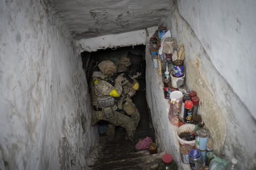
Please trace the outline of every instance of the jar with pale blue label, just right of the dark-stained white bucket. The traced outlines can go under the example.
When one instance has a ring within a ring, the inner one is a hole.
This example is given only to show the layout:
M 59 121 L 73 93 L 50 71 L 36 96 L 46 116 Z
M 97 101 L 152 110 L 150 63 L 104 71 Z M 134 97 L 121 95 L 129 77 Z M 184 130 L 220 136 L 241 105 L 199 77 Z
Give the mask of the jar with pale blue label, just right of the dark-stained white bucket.
M 207 128 L 200 128 L 196 131 L 196 148 L 199 150 L 206 150 L 207 140 L 209 138 L 210 131 Z

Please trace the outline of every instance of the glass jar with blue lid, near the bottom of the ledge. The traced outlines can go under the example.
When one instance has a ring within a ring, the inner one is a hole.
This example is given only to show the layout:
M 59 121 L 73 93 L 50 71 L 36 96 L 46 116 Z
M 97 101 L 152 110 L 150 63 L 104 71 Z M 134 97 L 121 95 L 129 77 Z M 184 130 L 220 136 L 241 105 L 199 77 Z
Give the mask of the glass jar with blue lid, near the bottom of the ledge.
M 189 151 L 189 165 L 191 169 L 200 170 L 203 167 L 201 153 L 197 149 Z

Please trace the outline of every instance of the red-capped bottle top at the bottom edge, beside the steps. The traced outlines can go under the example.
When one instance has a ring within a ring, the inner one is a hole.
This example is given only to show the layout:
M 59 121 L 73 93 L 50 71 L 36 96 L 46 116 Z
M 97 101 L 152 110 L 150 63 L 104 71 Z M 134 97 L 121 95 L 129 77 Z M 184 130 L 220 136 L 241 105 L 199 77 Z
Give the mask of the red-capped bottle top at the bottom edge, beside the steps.
M 158 164 L 158 170 L 177 170 L 177 163 L 173 160 L 170 154 L 164 154 Z

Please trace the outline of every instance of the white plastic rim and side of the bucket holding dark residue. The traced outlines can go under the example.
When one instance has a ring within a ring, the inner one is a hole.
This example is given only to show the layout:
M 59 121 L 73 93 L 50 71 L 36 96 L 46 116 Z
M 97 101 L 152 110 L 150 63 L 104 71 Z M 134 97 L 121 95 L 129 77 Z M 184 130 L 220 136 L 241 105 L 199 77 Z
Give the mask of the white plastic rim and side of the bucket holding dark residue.
M 183 140 L 179 137 L 179 134 L 182 133 L 182 132 L 193 132 L 194 129 L 195 129 L 195 126 L 196 125 L 193 125 L 193 124 L 184 124 L 182 126 L 180 126 L 177 130 L 177 138 L 179 140 L 179 143 L 180 145 L 182 144 L 189 144 L 191 147 L 195 147 L 195 144 L 196 144 L 196 140 Z

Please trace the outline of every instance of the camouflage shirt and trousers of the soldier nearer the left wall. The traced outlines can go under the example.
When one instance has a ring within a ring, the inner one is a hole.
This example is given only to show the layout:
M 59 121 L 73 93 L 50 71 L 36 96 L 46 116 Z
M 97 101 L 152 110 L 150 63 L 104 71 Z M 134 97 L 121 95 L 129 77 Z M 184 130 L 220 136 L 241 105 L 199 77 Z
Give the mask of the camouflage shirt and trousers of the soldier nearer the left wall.
M 121 126 L 127 131 L 129 139 L 133 140 L 133 131 L 136 130 L 136 126 L 131 117 L 117 112 L 116 105 L 113 105 L 111 107 L 113 109 L 113 115 L 111 115 L 110 117 L 105 114 L 104 107 L 98 107 L 99 99 L 110 96 L 110 93 L 113 89 L 115 89 L 120 96 L 122 92 L 122 80 L 123 78 L 121 76 L 116 78 L 115 86 L 112 86 L 109 82 L 106 82 L 104 80 L 97 80 L 96 82 L 94 82 L 91 90 L 92 105 L 94 107 L 94 111 L 92 114 L 92 125 L 96 124 L 98 120 L 106 120 L 109 122 L 108 130 L 106 133 L 108 139 L 114 138 L 115 126 Z

